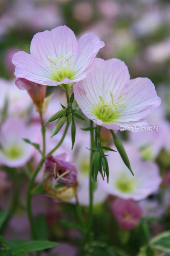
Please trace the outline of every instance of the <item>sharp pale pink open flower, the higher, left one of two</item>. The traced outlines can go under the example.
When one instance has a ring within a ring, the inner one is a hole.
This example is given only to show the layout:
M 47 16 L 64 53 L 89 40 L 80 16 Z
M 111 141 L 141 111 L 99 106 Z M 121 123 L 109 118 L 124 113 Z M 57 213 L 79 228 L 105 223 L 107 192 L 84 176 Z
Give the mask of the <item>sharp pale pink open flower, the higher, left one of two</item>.
M 86 77 L 85 69 L 103 46 L 93 33 L 84 34 L 77 42 L 66 26 L 46 30 L 33 36 L 31 54 L 14 54 L 14 75 L 44 85 L 75 83 Z

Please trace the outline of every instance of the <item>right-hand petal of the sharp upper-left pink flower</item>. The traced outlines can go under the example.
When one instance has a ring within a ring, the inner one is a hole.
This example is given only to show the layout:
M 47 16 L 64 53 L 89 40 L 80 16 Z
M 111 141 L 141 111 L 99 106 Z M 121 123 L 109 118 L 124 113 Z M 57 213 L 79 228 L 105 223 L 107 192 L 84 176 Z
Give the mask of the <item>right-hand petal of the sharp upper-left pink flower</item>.
M 94 33 L 86 33 L 78 39 L 78 54 L 74 68 L 77 73 L 83 72 L 94 60 L 104 42 Z

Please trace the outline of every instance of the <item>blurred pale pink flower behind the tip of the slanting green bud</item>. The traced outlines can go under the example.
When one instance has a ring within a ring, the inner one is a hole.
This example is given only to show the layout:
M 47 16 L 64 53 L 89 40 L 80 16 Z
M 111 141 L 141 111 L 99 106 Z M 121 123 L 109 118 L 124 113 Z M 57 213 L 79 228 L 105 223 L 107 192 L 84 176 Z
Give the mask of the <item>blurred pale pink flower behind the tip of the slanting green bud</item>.
M 110 195 L 124 199 L 142 200 L 155 193 L 162 181 L 157 164 L 142 161 L 139 152 L 132 145 L 124 145 L 134 176 L 123 163 L 118 153 L 107 156 L 109 183 L 100 179 L 102 188 Z M 113 147 L 111 147 L 113 148 Z

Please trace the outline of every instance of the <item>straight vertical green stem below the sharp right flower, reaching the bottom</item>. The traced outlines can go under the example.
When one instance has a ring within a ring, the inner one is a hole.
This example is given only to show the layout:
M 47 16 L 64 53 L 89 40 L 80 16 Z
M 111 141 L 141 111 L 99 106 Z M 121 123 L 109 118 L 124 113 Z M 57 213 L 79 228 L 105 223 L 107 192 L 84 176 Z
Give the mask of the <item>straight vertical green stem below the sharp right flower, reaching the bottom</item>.
M 93 122 L 90 120 L 90 127 L 93 127 Z M 90 131 L 90 138 L 91 138 L 91 149 L 94 149 L 94 131 Z M 80 255 L 84 255 L 84 247 L 86 242 L 89 239 L 90 232 L 92 230 L 92 220 L 93 220 L 93 181 L 92 181 L 92 173 L 91 173 L 91 165 L 92 165 L 92 160 L 93 160 L 93 151 L 91 150 L 90 153 L 90 172 L 89 172 L 89 220 L 88 220 L 88 227 L 87 231 L 84 237 L 83 245 L 81 248 Z

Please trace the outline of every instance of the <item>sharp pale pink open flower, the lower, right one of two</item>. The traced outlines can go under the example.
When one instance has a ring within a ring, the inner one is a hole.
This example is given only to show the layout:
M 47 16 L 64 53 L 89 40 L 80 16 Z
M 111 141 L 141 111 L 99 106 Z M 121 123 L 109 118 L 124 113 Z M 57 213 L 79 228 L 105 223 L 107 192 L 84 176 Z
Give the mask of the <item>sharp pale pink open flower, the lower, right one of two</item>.
M 161 103 L 151 80 L 130 80 L 127 66 L 118 59 L 96 58 L 89 68 L 90 74 L 73 86 L 74 98 L 85 116 L 107 129 L 147 124 L 144 117 Z

